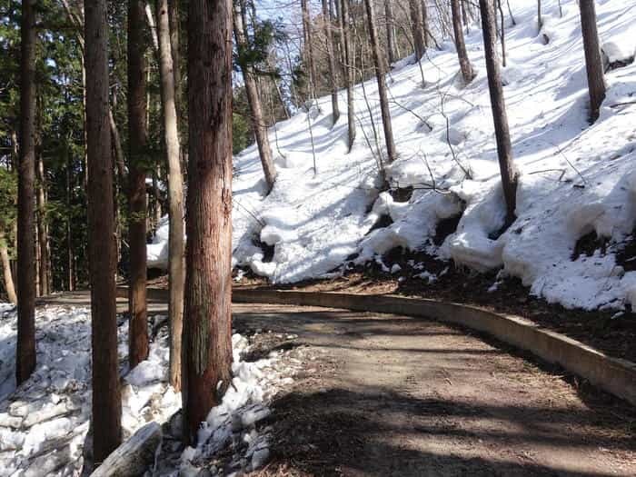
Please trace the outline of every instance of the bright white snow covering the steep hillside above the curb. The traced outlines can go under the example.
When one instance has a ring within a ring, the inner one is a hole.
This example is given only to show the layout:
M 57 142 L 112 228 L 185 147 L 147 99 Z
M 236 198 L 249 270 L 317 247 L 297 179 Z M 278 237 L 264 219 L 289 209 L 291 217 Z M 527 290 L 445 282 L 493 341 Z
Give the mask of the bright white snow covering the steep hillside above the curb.
M 498 236 L 504 205 L 482 35 L 479 25 L 472 25 L 466 37 L 478 72 L 472 84 L 462 87 L 451 42 L 422 58 L 424 87 L 412 58 L 394 65 L 388 77 L 400 157 L 387 168 L 387 179 L 393 189 L 413 187 L 408 202 L 381 192 L 369 147 L 375 147 L 372 124 L 359 84 L 351 154 L 345 144 L 346 114 L 332 127 L 330 98 L 323 97 L 320 110 L 313 107 L 309 113 L 315 172 L 305 113 L 270 130 L 279 175 L 267 197 L 256 147 L 234 158 L 234 264 L 273 283 L 292 283 L 339 273 L 347 260 L 363 263 L 402 246 L 478 271 L 502 268 L 532 293 L 568 307 L 621 308 L 635 302 L 636 273 L 623 271 L 614 249 L 575 260 L 572 253 L 578 239 L 592 231 L 620 243 L 634 227 L 636 65 L 608 73 L 601 118 L 589 125 L 578 6 L 562 3 L 560 18 L 556 0 L 543 2 L 541 35 L 532 2 L 511 2 L 516 26 L 506 17 L 504 93 L 522 174 L 518 219 L 508 231 Z M 636 8 L 631 0 L 597 2 L 597 14 L 601 44 L 607 45 L 611 61 L 633 56 Z M 382 144 L 375 80 L 364 90 Z M 345 99 L 341 91 L 343 112 Z M 457 231 L 441 246 L 433 245 L 437 224 L 458 214 Z M 393 223 L 373 228 L 383 215 Z M 263 243 L 273 246 L 271 260 Z

